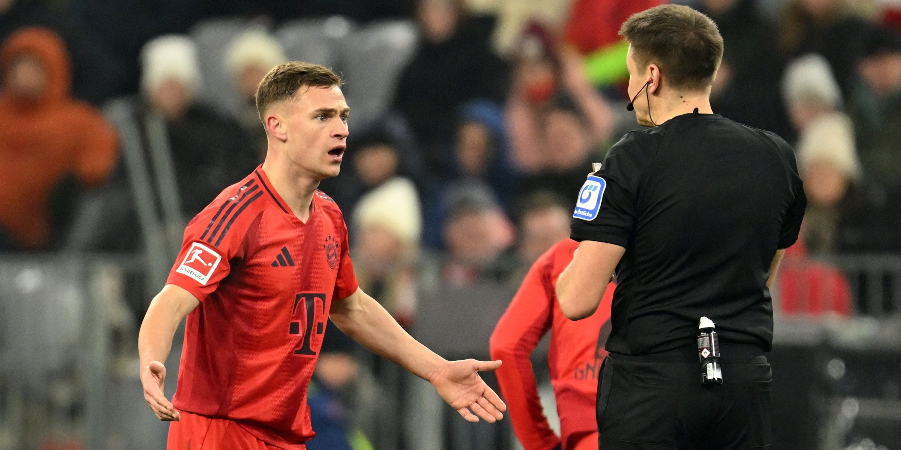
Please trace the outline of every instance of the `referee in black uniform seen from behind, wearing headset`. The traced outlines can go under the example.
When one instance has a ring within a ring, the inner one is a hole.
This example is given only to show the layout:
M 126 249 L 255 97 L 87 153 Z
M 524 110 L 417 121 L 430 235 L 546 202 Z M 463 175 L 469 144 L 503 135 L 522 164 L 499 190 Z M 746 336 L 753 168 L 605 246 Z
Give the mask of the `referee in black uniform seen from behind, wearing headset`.
M 579 193 L 576 256 L 560 275 L 571 320 L 618 287 L 597 392 L 600 448 L 737 449 L 772 444 L 769 285 L 797 239 L 805 195 L 777 135 L 710 108 L 723 38 L 704 14 L 634 14 L 629 94 L 642 125 Z M 699 320 L 715 323 L 723 383 L 704 383 Z

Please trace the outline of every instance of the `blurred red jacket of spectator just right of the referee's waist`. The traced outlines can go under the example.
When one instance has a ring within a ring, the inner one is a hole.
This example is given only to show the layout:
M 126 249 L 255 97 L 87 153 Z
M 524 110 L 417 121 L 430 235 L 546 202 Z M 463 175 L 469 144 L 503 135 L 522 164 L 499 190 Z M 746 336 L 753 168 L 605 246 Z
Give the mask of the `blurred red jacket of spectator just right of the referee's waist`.
M 851 286 L 842 272 L 807 257 L 803 241 L 788 247 L 776 277 L 776 310 L 787 316 L 850 316 Z

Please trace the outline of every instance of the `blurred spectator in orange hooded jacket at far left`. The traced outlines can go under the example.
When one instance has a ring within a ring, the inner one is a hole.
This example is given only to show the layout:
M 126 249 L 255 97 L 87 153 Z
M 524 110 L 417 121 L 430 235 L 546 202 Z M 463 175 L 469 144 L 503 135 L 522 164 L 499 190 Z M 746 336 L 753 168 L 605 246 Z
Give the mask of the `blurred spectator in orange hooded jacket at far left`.
M 66 48 L 52 31 L 25 28 L 0 49 L 2 247 L 59 243 L 77 187 L 105 181 L 116 157 L 113 128 L 69 96 Z M 6 238 L 3 238 L 3 235 Z

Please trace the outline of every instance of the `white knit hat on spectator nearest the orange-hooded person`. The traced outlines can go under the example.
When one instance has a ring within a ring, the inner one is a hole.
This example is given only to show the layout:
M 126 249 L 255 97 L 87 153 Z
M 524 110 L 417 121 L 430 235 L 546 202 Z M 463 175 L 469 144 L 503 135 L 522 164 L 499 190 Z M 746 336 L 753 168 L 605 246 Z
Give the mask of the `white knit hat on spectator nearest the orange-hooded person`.
M 169 79 L 175 79 L 192 94 L 200 88 L 200 67 L 193 40 L 167 34 L 150 40 L 141 49 L 141 89 L 149 93 Z

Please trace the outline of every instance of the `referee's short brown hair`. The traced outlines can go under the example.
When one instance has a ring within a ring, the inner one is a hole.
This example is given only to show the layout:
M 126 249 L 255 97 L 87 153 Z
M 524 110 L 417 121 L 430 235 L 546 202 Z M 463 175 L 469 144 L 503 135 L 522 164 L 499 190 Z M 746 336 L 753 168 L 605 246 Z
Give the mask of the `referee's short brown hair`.
M 640 67 L 657 64 L 677 88 L 710 87 L 723 60 L 716 24 L 688 6 L 661 4 L 633 14 L 619 34 L 632 45 Z

